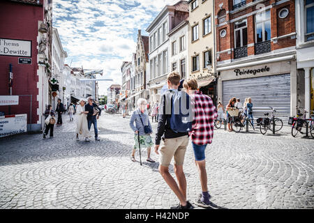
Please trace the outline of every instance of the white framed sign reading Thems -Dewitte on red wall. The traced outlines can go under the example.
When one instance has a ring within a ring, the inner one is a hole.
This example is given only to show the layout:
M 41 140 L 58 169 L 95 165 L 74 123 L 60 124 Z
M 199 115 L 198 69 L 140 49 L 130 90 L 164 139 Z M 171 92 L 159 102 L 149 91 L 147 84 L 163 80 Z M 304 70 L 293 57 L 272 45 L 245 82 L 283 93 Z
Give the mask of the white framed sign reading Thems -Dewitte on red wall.
M 31 40 L 0 38 L 0 55 L 31 57 Z

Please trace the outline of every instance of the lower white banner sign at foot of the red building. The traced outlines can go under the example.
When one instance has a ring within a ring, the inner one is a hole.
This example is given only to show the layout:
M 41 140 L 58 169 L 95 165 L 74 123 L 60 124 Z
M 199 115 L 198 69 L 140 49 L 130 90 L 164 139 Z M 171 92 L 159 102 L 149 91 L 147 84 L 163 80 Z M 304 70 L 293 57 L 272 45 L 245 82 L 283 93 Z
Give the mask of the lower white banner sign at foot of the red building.
M 0 116 L 0 137 L 27 132 L 27 114 Z

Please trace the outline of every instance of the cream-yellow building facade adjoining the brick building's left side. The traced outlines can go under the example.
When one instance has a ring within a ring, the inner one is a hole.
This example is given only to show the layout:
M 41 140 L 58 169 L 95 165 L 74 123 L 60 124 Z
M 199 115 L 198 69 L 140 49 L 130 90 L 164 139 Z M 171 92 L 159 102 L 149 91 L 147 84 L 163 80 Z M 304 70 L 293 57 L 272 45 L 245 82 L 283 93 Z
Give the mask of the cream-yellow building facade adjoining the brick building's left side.
M 190 0 L 188 17 L 188 76 L 197 80 L 202 93 L 217 100 L 216 79 L 210 72 L 216 72 L 214 2 Z M 218 1 L 216 1 L 217 3 Z M 210 66 L 210 69 L 208 69 Z

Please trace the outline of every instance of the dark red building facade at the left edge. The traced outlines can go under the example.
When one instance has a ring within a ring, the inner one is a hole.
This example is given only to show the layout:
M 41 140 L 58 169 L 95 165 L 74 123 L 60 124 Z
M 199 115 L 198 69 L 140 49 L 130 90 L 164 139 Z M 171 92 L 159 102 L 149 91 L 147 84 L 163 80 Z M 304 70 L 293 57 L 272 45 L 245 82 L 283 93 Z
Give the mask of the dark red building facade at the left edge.
M 0 95 L 19 95 L 0 112 L 27 114 L 27 131 L 40 131 L 50 103 L 52 1 L 1 1 L 0 19 Z

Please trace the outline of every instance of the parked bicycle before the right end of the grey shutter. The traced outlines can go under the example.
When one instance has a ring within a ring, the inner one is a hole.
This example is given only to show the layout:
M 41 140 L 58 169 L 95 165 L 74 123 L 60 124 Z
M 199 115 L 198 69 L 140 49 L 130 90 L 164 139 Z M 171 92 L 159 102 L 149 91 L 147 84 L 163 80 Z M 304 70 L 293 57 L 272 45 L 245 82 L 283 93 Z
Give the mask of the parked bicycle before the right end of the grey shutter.
M 271 118 L 268 118 L 269 113 L 265 113 L 264 116 L 266 118 L 258 118 L 260 120 L 260 133 L 266 134 L 267 130 L 271 130 L 273 132 L 278 132 L 283 128 L 283 121 L 281 118 L 275 118 L 275 113 L 277 112 L 273 107 L 271 108 Z M 275 129 L 274 129 L 275 128 Z

